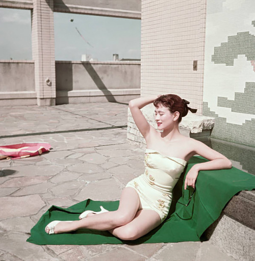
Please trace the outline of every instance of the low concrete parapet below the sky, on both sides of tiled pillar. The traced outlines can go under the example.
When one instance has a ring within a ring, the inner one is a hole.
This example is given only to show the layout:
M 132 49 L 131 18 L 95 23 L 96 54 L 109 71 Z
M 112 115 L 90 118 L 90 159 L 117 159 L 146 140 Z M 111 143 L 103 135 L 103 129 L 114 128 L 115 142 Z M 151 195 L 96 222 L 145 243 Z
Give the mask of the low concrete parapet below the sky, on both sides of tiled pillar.
M 56 104 L 140 96 L 139 62 L 56 62 Z M 36 105 L 34 61 L 0 61 L 0 106 Z

